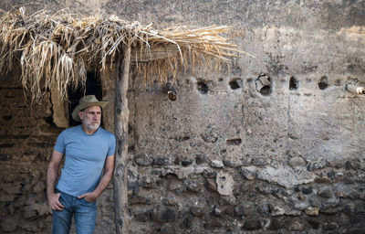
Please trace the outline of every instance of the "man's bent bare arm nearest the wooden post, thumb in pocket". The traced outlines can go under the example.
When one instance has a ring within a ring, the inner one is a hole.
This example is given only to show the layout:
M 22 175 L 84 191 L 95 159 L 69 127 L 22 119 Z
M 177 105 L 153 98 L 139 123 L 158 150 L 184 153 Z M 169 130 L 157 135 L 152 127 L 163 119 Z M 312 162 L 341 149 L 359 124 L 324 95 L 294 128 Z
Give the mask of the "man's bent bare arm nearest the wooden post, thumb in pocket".
M 78 198 L 85 198 L 89 202 L 93 202 L 96 198 L 100 197 L 102 191 L 109 185 L 114 170 L 114 154 L 107 156 L 104 165 L 104 174 L 100 179 L 99 185 L 90 193 L 78 196 Z

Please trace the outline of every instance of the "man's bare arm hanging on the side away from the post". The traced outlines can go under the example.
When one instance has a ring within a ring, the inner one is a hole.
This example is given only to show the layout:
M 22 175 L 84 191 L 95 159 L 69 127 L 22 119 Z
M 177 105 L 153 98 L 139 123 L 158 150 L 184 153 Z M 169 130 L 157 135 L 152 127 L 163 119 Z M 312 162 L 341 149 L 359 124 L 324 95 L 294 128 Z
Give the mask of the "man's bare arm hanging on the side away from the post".
M 56 179 L 58 176 L 59 165 L 61 164 L 63 154 L 53 150 L 51 161 L 47 169 L 47 198 L 48 205 L 53 210 L 62 210 L 64 206 L 59 202 L 59 194 L 55 194 Z

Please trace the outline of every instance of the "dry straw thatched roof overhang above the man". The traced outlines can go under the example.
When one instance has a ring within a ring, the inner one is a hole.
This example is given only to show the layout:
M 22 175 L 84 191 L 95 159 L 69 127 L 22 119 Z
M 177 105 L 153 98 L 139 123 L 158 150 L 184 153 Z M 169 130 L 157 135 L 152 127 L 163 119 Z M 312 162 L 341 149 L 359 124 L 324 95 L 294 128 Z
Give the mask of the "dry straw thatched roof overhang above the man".
M 130 45 L 134 68 L 143 74 L 144 82 L 159 80 L 162 84 L 187 66 L 212 66 L 210 61 L 214 60 L 219 68 L 228 58 L 238 57 L 243 51 L 220 36 L 229 29 L 174 27 L 157 31 L 118 16 L 80 17 L 66 10 L 26 16 L 20 8 L 0 17 L 0 69 L 4 72 L 20 62 L 22 83 L 34 100 L 55 83 L 67 99 L 68 86 L 84 85 L 87 71 L 95 67 L 103 73 L 112 69 L 123 46 Z

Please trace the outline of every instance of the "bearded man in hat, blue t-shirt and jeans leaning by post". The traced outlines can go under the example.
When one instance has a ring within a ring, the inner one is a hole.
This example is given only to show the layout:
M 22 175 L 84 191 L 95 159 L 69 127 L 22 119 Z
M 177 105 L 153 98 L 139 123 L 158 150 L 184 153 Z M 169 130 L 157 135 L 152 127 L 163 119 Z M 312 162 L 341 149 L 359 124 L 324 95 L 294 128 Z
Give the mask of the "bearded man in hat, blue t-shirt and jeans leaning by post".
M 81 98 L 72 112 L 72 118 L 81 124 L 57 137 L 47 170 L 53 233 L 68 233 L 73 216 L 78 234 L 94 232 L 96 199 L 110 183 L 114 167 L 115 136 L 99 127 L 101 109 L 107 103 L 98 101 L 94 95 Z M 65 164 L 55 191 L 64 155 Z

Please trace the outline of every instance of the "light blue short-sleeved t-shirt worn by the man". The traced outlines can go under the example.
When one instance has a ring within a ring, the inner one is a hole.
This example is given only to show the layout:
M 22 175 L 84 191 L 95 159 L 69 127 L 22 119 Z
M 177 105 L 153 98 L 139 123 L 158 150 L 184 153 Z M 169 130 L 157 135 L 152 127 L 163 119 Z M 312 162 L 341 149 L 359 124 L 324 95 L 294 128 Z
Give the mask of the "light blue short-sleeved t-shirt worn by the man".
M 58 135 L 55 150 L 65 154 L 56 188 L 78 197 L 99 185 L 106 157 L 115 154 L 115 136 L 101 127 L 89 135 L 78 125 Z

